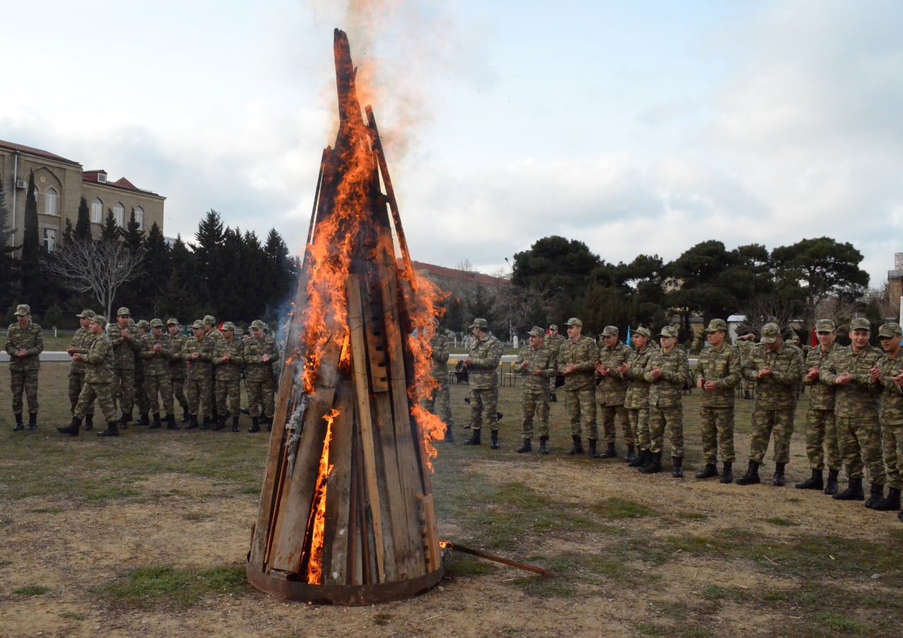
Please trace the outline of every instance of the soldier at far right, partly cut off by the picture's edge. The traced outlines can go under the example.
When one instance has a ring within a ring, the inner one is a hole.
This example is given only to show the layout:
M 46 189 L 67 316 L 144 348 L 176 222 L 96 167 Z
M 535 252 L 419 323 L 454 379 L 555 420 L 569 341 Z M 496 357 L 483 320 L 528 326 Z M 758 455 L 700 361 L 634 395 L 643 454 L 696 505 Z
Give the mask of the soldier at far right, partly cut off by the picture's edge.
M 903 487 L 903 349 L 900 348 L 900 325 L 886 323 L 878 329 L 878 339 L 884 350 L 871 376 L 882 385 L 881 438 L 884 447 L 884 467 L 888 472 L 888 495 L 871 508 L 879 512 L 897 512 L 900 508 L 900 487 Z M 898 513 L 903 521 L 903 513 Z

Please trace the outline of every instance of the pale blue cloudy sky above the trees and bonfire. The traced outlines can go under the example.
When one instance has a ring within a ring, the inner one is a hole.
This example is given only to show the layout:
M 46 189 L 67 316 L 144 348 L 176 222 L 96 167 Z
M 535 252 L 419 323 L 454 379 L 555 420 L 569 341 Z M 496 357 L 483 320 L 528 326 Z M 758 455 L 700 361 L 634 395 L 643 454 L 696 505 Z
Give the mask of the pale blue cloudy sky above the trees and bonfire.
M 898 2 L 0 0 L 0 139 L 303 251 L 349 33 L 415 260 L 507 273 L 537 239 L 607 262 L 830 236 L 903 252 Z M 30 25 L 23 28 L 25 25 Z

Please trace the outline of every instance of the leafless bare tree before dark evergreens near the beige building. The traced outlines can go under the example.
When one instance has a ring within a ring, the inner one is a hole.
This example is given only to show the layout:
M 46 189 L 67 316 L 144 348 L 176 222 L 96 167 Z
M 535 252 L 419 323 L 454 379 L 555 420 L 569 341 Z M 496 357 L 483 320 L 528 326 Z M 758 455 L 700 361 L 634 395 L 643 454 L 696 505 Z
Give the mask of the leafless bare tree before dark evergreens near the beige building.
M 44 269 L 70 291 L 91 294 L 110 319 L 116 291 L 144 273 L 144 249 L 118 241 L 73 241 L 51 253 Z

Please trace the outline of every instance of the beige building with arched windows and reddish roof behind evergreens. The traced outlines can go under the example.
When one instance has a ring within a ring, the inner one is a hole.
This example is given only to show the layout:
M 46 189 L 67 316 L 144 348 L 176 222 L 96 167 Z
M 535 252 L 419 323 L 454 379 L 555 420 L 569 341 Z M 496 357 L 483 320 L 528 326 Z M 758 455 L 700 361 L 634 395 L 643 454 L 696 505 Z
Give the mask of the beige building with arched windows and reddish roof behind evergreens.
M 83 171 L 79 162 L 22 144 L 0 140 L 0 180 L 3 180 L 7 227 L 14 228 L 14 245 L 21 245 L 24 233 L 25 197 L 28 175 L 34 171 L 38 200 L 38 236 L 44 247 L 53 251 L 61 241 L 66 220 L 74 228 L 79 220 L 81 198 L 88 202 L 91 233 L 97 238 L 113 211 L 116 225 L 126 227 L 132 209 L 135 220 L 145 232 L 156 222 L 163 232 L 163 202 L 166 198 L 150 190 L 139 189 L 125 177 L 107 180 L 107 171 Z

